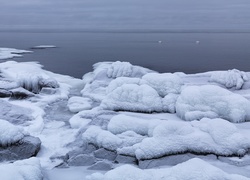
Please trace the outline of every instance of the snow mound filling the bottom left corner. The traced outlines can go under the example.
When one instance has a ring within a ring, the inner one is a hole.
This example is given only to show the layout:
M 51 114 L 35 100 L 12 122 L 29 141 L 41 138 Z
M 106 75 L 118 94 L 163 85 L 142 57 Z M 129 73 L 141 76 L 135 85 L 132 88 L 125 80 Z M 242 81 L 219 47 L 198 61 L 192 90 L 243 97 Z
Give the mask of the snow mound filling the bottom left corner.
M 0 164 L 1 180 L 42 180 L 43 174 L 37 158 Z

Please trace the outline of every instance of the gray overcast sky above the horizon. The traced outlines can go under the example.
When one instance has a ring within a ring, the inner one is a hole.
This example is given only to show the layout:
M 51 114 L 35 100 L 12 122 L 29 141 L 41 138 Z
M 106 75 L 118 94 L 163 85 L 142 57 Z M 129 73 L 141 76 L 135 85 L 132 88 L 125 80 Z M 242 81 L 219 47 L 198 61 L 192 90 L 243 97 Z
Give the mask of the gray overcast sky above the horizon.
M 6 28 L 250 30 L 250 0 L 0 0 Z

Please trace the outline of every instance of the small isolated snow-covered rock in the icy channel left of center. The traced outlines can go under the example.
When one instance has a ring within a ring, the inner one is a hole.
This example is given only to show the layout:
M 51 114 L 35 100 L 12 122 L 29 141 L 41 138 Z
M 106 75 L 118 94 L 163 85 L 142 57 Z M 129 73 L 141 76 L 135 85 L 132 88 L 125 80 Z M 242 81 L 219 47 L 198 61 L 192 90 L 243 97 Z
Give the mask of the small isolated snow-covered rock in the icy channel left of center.
M 89 98 L 73 96 L 68 100 L 68 108 L 71 112 L 76 113 L 82 110 L 89 110 L 92 108 L 92 101 Z

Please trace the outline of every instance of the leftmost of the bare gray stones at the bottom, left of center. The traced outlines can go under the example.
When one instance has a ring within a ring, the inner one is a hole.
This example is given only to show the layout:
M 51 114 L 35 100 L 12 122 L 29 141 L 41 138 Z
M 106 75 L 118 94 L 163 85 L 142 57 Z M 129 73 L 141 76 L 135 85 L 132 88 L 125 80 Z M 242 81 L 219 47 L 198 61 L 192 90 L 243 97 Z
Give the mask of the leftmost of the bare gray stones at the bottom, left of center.
M 96 162 L 93 155 L 80 154 L 68 160 L 69 166 L 90 166 Z

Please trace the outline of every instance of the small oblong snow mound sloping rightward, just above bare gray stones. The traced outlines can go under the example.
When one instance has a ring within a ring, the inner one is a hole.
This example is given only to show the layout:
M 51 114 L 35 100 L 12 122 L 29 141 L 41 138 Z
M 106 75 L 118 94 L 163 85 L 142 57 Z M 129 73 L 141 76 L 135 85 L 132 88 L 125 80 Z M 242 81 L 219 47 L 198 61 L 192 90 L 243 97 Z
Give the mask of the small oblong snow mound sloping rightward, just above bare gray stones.
M 82 137 L 88 143 L 93 143 L 98 147 L 103 147 L 108 150 L 116 150 L 122 144 L 122 140 L 119 137 L 98 126 L 90 126 L 83 133 Z

